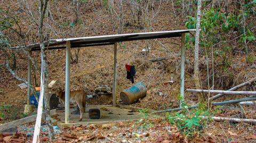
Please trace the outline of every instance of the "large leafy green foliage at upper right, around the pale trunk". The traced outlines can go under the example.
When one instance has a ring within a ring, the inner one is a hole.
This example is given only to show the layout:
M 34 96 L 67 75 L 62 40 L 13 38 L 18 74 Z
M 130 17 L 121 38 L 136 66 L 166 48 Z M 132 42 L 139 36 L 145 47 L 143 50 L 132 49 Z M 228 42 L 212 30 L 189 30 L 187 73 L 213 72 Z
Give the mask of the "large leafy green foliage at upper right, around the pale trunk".
M 202 11 L 202 17 L 200 21 L 200 40 L 199 46 L 203 46 L 206 49 L 207 53 L 210 53 L 212 47 L 215 47 L 214 55 L 222 57 L 220 60 L 220 65 L 223 70 L 227 71 L 231 65 L 232 57 L 231 48 L 229 47 L 228 40 L 230 40 L 230 32 L 238 30 L 239 42 L 241 44 L 246 41 L 255 40 L 255 35 L 251 32 L 250 28 L 253 27 L 253 22 L 245 26 L 244 32 L 244 21 L 249 19 L 249 13 L 252 12 L 255 3 L 250 3 L 247 1 L 245 4 L 245 10 L 241 11 L 241 14 L 235 15 L 233 13 L 224 14 L 221 13 L 220 8 L 218 9 L 204 9 Z M 186 22 L 186 27 L 188 29 L 196 28 L 196 18 L 193 16 L 187 16 L 188 20 Z M 234 33 L 234 32 L 233 32 Z M 195 38 L 189 37 L 186 35 L 185 43 L 188 48 L 192 48 L 195 45 Z M 193 45 L 192 45 L 193 44 Z M 220 48 L 217 49 L 218 45 Z M 242 46 L 244 47 L 244 46 Z M 248 49 L 245 48 L 245 52 L 248 52 Z M 250 59 L 249 59 L 250 58 Z M 253 57 L 247 57 L 247 61 L 253 61 Z

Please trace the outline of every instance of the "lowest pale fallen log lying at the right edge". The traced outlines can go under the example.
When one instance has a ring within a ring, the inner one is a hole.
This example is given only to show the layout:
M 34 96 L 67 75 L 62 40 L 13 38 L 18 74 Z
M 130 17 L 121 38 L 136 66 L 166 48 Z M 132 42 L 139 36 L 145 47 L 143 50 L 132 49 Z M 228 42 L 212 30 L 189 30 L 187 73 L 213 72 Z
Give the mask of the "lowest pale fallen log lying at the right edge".
M 234 122 L 234 123 L 249 123 L 249 124 L 256 124 L 256 120 L 254 119 L 239 119 L 239 118 L 229 118 L 229 117 L 211 117 L 211 116 L 200 116 L 203 117 L 203 119 L 209 119 L 211 118 L 212 120 L 216 122 Z

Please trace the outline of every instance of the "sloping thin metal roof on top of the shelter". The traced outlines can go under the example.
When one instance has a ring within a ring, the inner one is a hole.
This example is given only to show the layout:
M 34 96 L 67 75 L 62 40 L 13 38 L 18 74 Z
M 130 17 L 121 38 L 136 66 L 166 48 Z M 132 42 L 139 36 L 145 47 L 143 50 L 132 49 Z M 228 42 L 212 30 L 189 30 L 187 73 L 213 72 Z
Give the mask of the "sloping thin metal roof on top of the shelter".
M 195 30 L 196 29 L 127 33 L 127 34 L 119 34 L 119 35 L 92 36 L 92 37 L 65 38 L 65 39 L 51 39 L 51 40 L 45 41 L 44 45 L 47 47 L 52 47 L 51 49 L 65 48 L 65 47 L 56 47 L 56 46 L 66 45 L 66 41 L 71 41 L 71 48 L 112 45 L 115 42 L 122 42 L 122 41 L 181 37 L 182 33 L 187 33 L 189 31 L 195 31 Z M 28 45 L 28 46 L 22 46 L 22 47 L 12 47 L 12 48 L 19 49 L 19 48 L 26 48 L 26 47 L 31 48 L 31 51 L 37 51 L 40 49 L 39 43 Z

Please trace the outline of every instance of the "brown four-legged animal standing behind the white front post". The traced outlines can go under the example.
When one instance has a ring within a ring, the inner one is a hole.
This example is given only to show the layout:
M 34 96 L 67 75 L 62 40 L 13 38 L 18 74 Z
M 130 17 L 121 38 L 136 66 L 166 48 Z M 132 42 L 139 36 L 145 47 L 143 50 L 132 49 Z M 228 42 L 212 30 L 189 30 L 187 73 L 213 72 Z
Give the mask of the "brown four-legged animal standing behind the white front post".
M 65 91 L 62 92 L 61 88 L 56 91 L 57 97 L 60 103 L 65 107 Z M 69 94 L 69 102 L 78 105 L 80 109 L 80 118 L 78 121 L 82 121 L 83 113 L 85 112 L 85 92 L 83 90 L 71 91 Z

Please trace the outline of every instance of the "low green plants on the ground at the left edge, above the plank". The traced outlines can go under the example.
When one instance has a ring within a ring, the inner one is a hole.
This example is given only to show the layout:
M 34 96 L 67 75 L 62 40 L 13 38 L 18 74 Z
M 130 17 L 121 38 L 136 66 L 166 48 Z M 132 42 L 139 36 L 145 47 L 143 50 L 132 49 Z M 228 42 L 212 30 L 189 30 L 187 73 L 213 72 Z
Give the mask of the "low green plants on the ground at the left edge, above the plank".
M 12 105 L 0 104 L 0 117 L 2 120 L 15 120 L 19 114 L 18 108 Z

